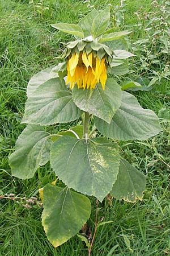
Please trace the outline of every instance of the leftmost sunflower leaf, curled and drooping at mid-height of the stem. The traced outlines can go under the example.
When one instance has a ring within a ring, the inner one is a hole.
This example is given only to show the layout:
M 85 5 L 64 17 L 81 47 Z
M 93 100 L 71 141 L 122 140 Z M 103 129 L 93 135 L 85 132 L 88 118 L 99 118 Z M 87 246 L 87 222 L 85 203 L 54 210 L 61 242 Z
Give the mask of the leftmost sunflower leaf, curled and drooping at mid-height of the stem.
M 28 125 L 19 135 L 15 151 L 10 155 L 12 175 L 20 179 L 33 177 L 37 168 L 49 160 L 52 141 L 39 125 Z

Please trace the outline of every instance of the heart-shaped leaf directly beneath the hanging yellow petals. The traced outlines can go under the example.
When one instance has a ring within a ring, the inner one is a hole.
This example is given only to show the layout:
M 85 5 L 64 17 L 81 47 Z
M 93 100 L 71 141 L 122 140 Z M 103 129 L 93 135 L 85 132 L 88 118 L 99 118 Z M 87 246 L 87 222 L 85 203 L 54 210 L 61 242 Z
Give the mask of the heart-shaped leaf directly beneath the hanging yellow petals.
M 104 121 L 110 123 L 111 119 L 121 104 L 121 87 L 114 79 L 107 79 L 105 90 L 101 84 L 97 84 L 95 89 L 73 89 L 73 100 L 83 111 L 94 114 Z

